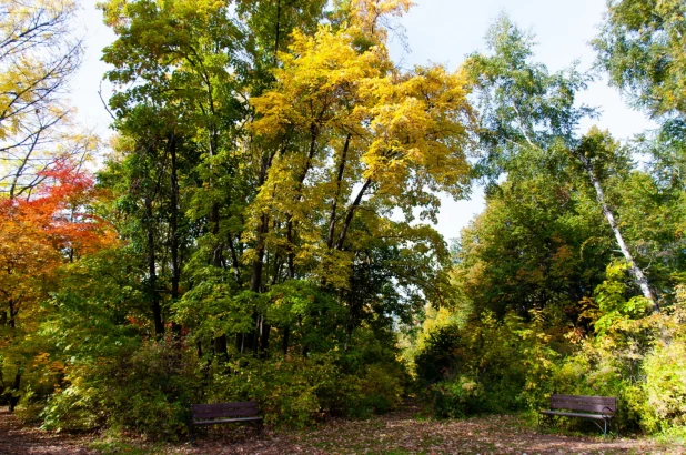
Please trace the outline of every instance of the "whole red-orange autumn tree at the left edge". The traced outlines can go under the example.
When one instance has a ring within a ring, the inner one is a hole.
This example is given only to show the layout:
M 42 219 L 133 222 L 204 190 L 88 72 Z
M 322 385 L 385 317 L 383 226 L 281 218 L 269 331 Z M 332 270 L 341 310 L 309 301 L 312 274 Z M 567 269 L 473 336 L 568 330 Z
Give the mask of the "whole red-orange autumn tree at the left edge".
M 0 385 L 10 411 L 36 354 L 26 344 L 44 311 L 40 303 L 54 290 L 58 266 L 115 242 L 109 224 L 90 208 L 95 196 L 91 176 L 64 161 L 43 172 L 32 200 L 0 201 Z

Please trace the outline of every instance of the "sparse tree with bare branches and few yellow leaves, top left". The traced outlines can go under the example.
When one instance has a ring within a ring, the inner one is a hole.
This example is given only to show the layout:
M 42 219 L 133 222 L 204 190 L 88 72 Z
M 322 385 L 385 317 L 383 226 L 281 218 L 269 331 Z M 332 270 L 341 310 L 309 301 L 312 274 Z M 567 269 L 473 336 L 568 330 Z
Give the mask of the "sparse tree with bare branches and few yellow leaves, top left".
M 79 68 L 82 43 L 73 36 L 71 0 L 0 2 L 0 194 L 31 192 L 63 155 L 91 153 L 73 131 L 63 97 Z M 63 128 L 62 128 L 63 127 Z

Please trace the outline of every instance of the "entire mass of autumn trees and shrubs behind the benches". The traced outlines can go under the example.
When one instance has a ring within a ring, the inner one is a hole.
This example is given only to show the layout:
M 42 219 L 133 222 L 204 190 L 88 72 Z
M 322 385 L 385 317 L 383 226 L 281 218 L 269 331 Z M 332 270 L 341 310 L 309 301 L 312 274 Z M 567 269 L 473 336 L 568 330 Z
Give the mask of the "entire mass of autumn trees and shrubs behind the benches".
M 538 63 L 506 16 L 456 70 L 405 68 L 387 43 L 411 6 L 100 3 L 115 133 L 95 166 L 65 97 L 77 6 L 4 0 L 2 400 L 173 439 L 190 403 L 302 426 L 566 392 L 683 434 L 686 7 L 609 2 L 587 72 Z M 591 127 L 594 78 L 649 129 Z M 477 183 L 448 247 L 438 209 Z

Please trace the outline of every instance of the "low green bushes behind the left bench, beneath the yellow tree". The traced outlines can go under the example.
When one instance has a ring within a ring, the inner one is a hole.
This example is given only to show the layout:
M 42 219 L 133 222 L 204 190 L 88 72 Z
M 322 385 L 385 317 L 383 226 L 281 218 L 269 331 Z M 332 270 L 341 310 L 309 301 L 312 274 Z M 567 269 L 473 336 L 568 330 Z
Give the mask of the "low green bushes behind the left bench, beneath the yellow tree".
M 397 365 L 372 364 L 356 374 L 342 371 L 335 353 L 287 358 L 243 357 L 216 367 L 208 402 L 251 400 L 265 422 L 304 427 L 326 414 L 364 417 L 397 406 L 404 392 Z

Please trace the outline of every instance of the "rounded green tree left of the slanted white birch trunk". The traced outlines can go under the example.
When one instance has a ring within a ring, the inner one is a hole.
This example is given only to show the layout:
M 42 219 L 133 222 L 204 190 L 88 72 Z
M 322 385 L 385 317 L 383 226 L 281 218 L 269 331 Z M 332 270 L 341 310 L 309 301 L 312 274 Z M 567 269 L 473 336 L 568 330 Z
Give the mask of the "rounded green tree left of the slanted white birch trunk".
M 454 279 L 477 313 L 544 311 L 551 327 L 579 326 L 578 302 L 602 282 L 612 246 L 595 201 L 542 172 L 487 195 L 462 232 Z

